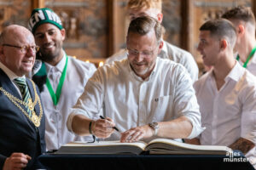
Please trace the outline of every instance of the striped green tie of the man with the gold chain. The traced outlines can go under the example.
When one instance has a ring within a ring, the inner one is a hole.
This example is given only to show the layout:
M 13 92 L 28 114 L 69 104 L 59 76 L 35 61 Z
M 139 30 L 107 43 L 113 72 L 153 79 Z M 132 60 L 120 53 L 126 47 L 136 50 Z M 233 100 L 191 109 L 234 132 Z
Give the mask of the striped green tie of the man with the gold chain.
M 23 101 L 28 104 L 28 99 L 31 99 L 31 96 L 29 94 L 27 85 L 26 85 L 26 78 L 15 78 L 15 82 L 16 84 L 19 86 L 20 88 L 20 93 L 22 95 L 22 99 Z M 31 116 L 31 111 L 28 108 L 28 106 L 26 106 L 26 111 L 28 113 L 29 116 Z

